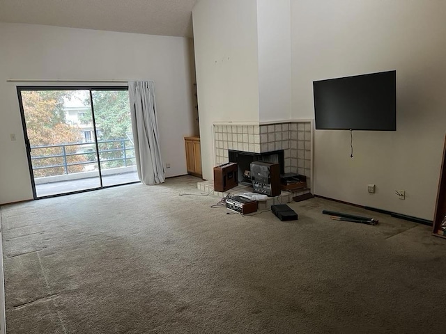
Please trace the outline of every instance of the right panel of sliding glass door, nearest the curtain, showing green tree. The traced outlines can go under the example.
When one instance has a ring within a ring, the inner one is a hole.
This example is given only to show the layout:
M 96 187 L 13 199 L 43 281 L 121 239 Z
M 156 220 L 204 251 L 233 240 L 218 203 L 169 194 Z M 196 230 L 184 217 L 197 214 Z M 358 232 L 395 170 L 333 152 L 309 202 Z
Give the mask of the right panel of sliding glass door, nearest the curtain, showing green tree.
M 139 182 L 128 90 L 91 90 L 103 186 Z

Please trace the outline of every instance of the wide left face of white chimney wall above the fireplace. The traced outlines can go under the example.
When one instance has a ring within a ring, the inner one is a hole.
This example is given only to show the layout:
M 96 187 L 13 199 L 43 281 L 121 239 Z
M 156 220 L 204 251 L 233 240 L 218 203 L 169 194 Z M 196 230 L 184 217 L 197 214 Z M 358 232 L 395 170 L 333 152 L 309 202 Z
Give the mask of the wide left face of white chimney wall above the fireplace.
M 203 178 L 213 122 L 259 122 L 256 0 L 199 0 L 192 11 Z

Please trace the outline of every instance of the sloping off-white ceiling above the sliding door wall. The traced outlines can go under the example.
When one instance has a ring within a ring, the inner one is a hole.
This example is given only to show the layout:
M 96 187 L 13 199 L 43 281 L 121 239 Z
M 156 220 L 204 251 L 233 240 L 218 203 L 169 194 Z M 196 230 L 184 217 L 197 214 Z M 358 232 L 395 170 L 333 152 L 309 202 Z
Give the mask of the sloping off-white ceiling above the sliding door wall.
M 0 22 L 192 37 L 197 0 L 0 0 Z

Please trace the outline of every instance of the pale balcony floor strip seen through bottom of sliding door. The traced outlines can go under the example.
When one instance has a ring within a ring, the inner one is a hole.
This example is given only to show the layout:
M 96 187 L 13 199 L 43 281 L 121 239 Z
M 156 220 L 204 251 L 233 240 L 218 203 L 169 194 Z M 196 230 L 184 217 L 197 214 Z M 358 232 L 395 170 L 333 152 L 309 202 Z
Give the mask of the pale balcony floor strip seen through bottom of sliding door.
M 131 182 L 139 182 L 138 173 L 136 171 L 131 173 L 102 176 L 103 186 L 114 186 Z M 72 193 L 75 191 L 83 191 L 95 188 L 100 188 L 99 177 L 88 177 L 84 179 L 36 184 L 36 193 L 37 197 L 40 198 L 45 196 L 59 195 L 61 193 Z

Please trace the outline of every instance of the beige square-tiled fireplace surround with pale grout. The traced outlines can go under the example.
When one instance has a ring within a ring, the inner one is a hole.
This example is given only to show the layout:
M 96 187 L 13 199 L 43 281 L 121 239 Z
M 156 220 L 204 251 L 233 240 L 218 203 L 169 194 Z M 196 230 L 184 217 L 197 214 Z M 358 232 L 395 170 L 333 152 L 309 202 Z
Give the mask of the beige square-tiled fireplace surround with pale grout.
M 273 124 L 215 123 L 215 165 L 229 162 L 228 150 L 264 153 L 284 150 L 284 172 L 312 177 L 312 122 Z

